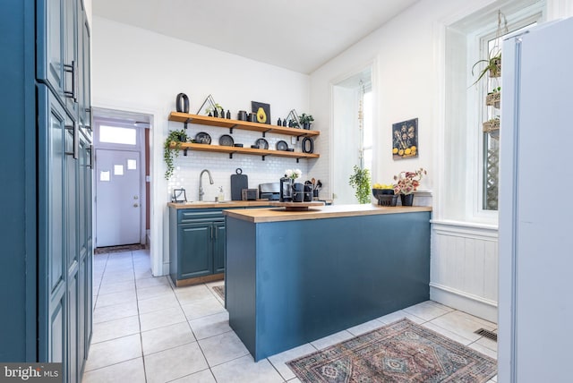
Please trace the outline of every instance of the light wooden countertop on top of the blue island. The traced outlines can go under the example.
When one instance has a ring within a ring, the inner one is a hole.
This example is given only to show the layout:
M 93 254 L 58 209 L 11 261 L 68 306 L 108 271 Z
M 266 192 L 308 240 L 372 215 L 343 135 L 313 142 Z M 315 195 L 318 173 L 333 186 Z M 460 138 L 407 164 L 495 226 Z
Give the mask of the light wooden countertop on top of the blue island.
M 417 213 L 421 211 L 432 211 L 432 208 L 425 206 L 398 206 L 390 208 L 379 205 L 364 204 L 321 206 L 318 208 L 309 208 L 308 211 L 286 211 L 284 208 L 224 210 L 223 214 L 228 217 L 243 219 L 249 222 L 261 223 L 297 221 L 303 219 L 369 216 L 376 214 Z

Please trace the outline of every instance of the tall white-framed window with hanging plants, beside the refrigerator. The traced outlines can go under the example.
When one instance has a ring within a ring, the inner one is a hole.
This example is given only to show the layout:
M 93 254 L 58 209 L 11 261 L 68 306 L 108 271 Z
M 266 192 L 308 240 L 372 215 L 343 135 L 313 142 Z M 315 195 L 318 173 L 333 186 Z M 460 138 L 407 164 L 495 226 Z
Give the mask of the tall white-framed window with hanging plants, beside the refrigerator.
M 474 85 L 485 65 L 475 66 L 475 74 L 472 67 L 488 59 L 496 45 L 501 48 L 508 34 L 543 20 L 544 9 L 544 0 L 500 1 L 447 26 L 443 45 L 444 140 L 439 160 L 445 176 L 440 182 L 438 219 L 497 225 L 499 130 L 484 132 L 483 123 L 500 115 L 499 108 L 486 105 L 486 97 L 500 87 L 501 78 L 489 79 L 485 74 Z M 507 30 L 505 22 L 500 25 L 498 21 L 499 11 L 507 17 Z

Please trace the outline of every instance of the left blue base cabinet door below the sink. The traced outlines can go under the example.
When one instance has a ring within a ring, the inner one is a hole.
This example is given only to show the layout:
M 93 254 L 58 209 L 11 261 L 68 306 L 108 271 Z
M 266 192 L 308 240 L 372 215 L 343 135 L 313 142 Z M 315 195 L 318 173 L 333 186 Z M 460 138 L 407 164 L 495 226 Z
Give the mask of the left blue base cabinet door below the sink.
M 178 226 L 177 231 L 177 279 L 213 274 L 213 226 L 186 224 Z

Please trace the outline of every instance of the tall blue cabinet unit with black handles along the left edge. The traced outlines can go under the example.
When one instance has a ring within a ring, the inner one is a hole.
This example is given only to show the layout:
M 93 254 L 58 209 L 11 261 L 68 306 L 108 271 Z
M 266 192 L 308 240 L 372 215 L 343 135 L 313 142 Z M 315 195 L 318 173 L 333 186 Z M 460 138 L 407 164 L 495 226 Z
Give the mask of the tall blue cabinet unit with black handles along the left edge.
M 0 11 L 13 31 L 0 34 L 0 360 L 63 362 L 63 381 L 78 382 L 92 327 L 89 25 L 81 0 L 6 0 Z

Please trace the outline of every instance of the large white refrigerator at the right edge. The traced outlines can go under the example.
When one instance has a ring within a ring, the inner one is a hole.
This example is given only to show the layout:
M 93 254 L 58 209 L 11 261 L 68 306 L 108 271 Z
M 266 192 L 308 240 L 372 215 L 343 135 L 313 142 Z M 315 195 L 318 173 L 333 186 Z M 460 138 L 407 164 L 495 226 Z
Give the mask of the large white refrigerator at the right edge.
M 573 381 L 573 19 L 503 43 L 498 382 Z

